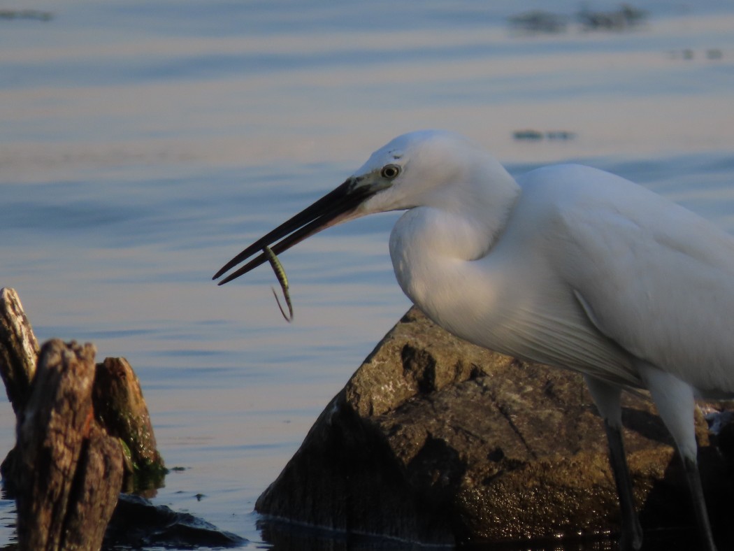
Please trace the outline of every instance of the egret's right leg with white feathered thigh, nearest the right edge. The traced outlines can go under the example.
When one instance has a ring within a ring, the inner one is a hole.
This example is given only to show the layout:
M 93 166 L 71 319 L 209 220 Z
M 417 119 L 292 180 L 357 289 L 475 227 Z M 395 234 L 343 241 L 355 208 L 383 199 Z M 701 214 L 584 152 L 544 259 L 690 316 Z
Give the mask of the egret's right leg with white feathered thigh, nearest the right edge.
M 701 538 L 702 550 L 716 551 L 706 502 L 703 498 L 701 475 L 698 470 L 696 425 L 694 421 L 693 389 L 688 383 L 650 364 L 639 365 L 639 372 L 653 396 L 661 419 L 673 436 L 683 458 L 688 487 L 691 489 L 694 513 Z

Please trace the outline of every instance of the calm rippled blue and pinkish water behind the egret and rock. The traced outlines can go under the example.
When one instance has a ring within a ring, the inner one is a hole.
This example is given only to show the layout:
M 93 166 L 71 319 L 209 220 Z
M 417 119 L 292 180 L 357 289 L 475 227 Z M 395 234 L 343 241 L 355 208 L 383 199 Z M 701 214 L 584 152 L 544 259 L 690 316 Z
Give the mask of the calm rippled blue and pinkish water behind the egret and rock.
M 283 256 L 291 325 L 269 269 L 210 278 L 390 138 L 453 129 L 514 172 L 582 160 L 734 231 L 734 7 L 636 5 L 639 28 L 553 35 L 507 18 L 578 2 L 2 6 L 52 18 L 0 19 L 0 286 L 40 340 L 91 341 L 137 370 L 167 465 L 185 467 L 156 503 L 266 547 L 255 499 L 409 306 L 388 258 L 396 215 Z M 573 137 L 513 137 L 526 129 Z M 0 502 L 0 544 L 13 522 Z

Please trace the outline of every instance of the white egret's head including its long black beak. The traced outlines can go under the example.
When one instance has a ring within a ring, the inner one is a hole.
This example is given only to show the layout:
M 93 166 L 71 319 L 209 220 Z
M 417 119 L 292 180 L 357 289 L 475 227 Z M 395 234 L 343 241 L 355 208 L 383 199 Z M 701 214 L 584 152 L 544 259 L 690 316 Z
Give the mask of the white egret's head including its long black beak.
M 267 245 L 278 254 L 318 231 L 373 212 L 451 204 L 456 194 L 447 184 L 470 180 L 486 159 L 491 157 L 473 142 L 451 132 L 427 130 L 396 137 L 375 151 L 344 184 L 231 259 L 214 279 Z M 255 256 L 219 284 L 264 262 L 264 254 Z

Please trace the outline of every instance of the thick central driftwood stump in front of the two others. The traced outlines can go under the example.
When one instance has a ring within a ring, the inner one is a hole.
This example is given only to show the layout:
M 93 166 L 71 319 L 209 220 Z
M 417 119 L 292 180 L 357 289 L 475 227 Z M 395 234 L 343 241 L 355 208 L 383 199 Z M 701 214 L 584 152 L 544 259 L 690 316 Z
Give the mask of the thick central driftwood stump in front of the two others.
M 95 350 L 43 345 L 18 419 L 15 488 L 23 550 L 98 549 L 123 480 L 117 439 L 93 419 Z

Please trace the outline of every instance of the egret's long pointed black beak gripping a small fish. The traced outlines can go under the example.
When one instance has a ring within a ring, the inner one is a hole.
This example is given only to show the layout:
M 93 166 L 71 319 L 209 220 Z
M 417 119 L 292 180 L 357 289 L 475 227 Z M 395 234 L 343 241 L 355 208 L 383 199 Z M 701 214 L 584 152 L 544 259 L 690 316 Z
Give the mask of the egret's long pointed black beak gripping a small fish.
M 222 266 L 214 274 L 212 279 L 219 278 L 222 274 L 231 270 L 240 262 L 244 262 L 253 254 L 261 253 L 251 259 L 250 262 L 247 262 L 247 264 L 244 264 L 244 266 L 230 273 L 222 281 L 219 281 L 218 285 L 223 285 L 228 281 L 232 281 L 234 278 L 239 278 L 240 275 L 267 262 L 267 257 L 262 253 L 266 246 L 270 245 L 270 248 L 272 248 L 275 254 L 280 254 L 283 251 L 287 251 L 293 245 L 296 245 L 296 243 L 305 240 L 307 237 L 345 220 L 349 215 L 352 215 L 355 209 L 357 209 L 357 206 L 377 191 L 370 186 L 357 186 L 359 182 L 360 179 L 348 179 L 344 184 L 341 184 L 341 186 L 320 198 L 319 201 L 303 209 L 290 220 L 280 224 L 280 226 L 269 232 L 269 234 L 264 235 L 264 237 L 252 243 L 252 245 Z M 273 243 L 275 245 L 272 245 Z

